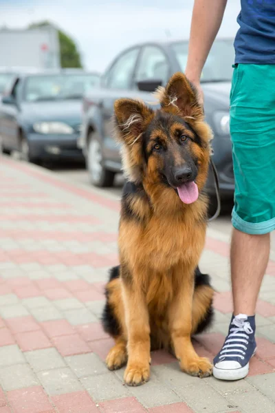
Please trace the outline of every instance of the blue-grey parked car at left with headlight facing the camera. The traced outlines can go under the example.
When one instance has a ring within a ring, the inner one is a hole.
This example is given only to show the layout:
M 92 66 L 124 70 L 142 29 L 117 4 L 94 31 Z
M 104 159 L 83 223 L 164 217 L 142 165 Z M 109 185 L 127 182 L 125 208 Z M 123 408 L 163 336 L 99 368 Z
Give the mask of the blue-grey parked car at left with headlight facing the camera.
M 80 134 L 81 100 L 99 74 L 58 70 L 20 74 L 0 103 L 0 139 L 6 153 L 40 162 L 53 158 L 83 159 Z

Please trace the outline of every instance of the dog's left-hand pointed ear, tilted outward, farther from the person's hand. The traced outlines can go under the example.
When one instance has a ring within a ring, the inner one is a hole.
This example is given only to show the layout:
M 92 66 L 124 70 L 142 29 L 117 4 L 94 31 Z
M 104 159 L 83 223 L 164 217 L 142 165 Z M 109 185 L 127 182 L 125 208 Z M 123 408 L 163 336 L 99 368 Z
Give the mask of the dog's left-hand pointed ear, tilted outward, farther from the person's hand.
M 115 100 L 114 112 L 117 138 L 127 145 L 138 140 L 154 114 L 142 101 L 126 98 Z

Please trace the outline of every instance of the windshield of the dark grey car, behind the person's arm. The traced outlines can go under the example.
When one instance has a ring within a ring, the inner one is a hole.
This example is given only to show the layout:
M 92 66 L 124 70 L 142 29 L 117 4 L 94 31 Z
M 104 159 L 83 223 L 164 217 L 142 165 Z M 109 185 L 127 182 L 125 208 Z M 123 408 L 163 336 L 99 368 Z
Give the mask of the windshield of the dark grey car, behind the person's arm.
M 185 72 L 188 56 L 188 43 L 172 43 L 171 46 L 177 56 L 181 71 Z M 217 39 L 214 41 L 208 59 L 203 67 L 201 82 L 231 81 L 233 63 L 233 41 L 230 39 Z

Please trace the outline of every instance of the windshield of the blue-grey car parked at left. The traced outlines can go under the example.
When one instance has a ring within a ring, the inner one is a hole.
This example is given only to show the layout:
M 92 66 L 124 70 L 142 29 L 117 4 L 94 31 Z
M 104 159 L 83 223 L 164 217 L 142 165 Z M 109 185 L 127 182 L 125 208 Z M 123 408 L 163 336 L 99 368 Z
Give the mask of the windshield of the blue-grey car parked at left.
M 98 85 L 97 74 L 58 74 L 29 76 L 25 81 L 24 100 L 81 99 L 87 90 Z

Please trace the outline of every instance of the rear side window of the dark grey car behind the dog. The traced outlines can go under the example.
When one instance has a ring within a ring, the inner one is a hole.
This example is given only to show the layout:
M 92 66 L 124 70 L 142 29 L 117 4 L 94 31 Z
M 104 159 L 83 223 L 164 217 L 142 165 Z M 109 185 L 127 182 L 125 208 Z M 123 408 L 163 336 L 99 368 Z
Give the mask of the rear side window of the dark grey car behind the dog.
M 140 49 L 136 47 L 118 58 L 107 74 L 107 87 L 111 89 L 130 89 L 139 51 Z

